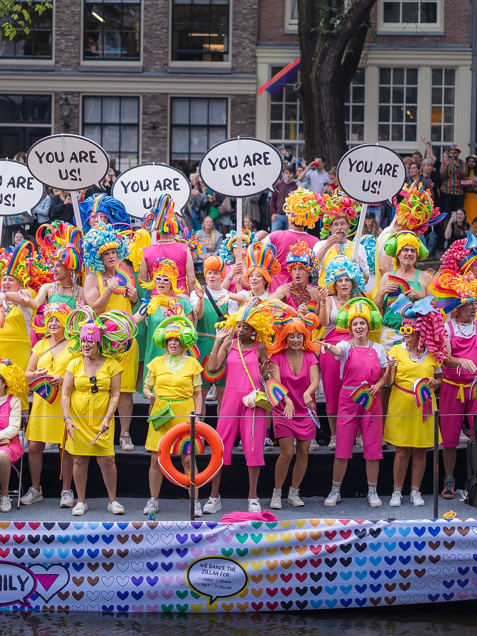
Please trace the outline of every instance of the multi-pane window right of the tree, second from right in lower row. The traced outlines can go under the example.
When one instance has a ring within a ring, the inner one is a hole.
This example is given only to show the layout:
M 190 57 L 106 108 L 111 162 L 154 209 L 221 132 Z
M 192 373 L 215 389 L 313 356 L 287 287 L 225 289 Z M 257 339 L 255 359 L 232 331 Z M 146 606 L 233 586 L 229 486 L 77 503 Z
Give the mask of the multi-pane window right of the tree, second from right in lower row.
M 417 140 L 417 69 L 379 69 L 378 140 Z

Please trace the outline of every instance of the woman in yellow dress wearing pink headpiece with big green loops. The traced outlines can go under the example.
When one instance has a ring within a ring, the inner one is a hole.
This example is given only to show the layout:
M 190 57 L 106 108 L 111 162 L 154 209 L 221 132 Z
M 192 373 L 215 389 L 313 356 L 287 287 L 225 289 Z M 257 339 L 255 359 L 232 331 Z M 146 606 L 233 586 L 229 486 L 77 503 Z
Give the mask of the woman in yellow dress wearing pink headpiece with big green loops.
M 114 411 L 118 407 L 123 369 L 114 357 L 130 346 L 137 333 L 130 315 L 104 312 L 99 318 L 90 307 L 69 314 L 65 333 L 73 340 L 71 349 L 81 356 L 67 368 L 61 393 L 61 410 L 68 438 L 66 450 L 73 455 L 73 478 L 78 501 L 74 516 L 88 510 L 85 490 L 90 457 L 100 466 L 113 515 L 123 515 L 124 507 L 116 499 L 114 463 Z

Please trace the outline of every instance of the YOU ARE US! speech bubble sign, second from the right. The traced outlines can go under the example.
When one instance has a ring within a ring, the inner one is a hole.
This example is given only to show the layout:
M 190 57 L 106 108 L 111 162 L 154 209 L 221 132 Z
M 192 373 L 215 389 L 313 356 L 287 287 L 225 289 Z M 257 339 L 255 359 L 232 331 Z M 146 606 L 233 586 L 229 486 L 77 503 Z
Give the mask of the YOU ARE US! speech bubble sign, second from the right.
M 251 197 L 275 191 L 283 170 L 282 155 L 261 139 L 237 137 L 209 148 L 199 164 L 202 181 L 225 197 Z

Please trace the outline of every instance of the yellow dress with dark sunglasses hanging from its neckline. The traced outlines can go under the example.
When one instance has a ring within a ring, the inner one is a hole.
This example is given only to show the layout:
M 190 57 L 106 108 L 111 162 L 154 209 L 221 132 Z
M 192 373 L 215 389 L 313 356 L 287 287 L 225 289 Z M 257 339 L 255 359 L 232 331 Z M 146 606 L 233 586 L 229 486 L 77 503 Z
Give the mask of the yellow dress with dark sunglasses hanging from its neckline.
M 83 356 L 72 360 L 67 371 L 74 375 L 69 415 L 78 431 L 73 429 L 73 439 L 66 438 L 66 450 L 71 455 L 94 455 L 104 457 L 114 455 L 114 417 L 109 422 L 109 432 L 88 448 L 95 434 L 100 431 L 102 420 L 107 415 L 111 378 L 122 373 L 120 364 L 114 358 L 106 358 L 96 373 L 97 393 L 92 393 L 90 378 L 86 375 Z

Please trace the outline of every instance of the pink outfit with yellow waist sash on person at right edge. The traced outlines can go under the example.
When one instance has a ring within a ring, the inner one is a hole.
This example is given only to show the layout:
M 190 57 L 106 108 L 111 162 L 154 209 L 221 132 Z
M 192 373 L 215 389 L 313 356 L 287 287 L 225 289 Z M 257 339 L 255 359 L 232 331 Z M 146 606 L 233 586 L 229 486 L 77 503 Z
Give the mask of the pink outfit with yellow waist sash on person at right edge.
M 462 338 L 456 336 L 452 321 L 448 322 L 450 329 L 450 352 L 453 357 L 466 358 L 472 360 L 477 365 L 477 333 L 470 338 Z M 477 321 L 475 324 L 477 332 Z M 477 400 L 470 399 L 470 385 L 472 384 L 475 374 L 467 373 L 462 367 L 460 375 L 457 375 L 457 368 L 451 369 L 443 366 L 444 381 L 441 386 L 441 395 L 439 397 L 439 411 L 441 413 L 441 435 L 442 445 L 444 448 L 455 448 L 459 446 L 460 429 L 462 428 L 462 420 L 464 415 L 467 418 L 469 429 L 473 431 L 472 413 L 476 413 Z M 450 380 L 454 384 L 448 384 L 446 380 Z M 460 386 L 455 386 L 458 384 Z M 460 396 L 459 396 L 460 392 Z

